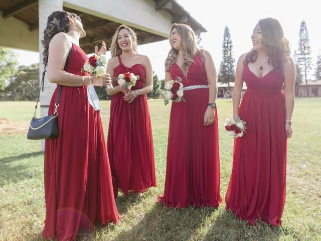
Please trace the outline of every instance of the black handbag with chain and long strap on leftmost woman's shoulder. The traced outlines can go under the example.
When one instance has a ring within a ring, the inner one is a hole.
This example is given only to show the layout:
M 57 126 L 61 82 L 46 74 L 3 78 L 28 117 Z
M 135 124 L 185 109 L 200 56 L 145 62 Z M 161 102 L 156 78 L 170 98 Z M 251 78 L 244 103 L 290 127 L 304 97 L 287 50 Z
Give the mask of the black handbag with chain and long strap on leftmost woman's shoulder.
M 69 50 L 64 70 L 66 70 L 68 67 L 71 52 L 72 52 L 72 47 Z M 27 134 L 27 138 L 30 140 L 43 140 L 43 139 L 48 139 L 48 138 L 59 137 L 58 106 L 59 106 L 59 101 L 60 101 L 62 85 L 59 86 L 57 101 L 55 103 L 56 108 L 55 108 L 54 114 L 44 116 L 42 118 L 36 118 L 36 111 L 37 111 L 39 97 L 40 97 L 40 90 L 42 89 L 42 91 L 44 91 L 44 80 L 45 80 L 47 63 L 48 63 L 48 57 L 47 57 L 46 64 L 45 64 L 45 70 L 42 73 L 42 80 L 41 80 L 41 84 L 39 87 L 38 99 L 37 99 L 37 103 L 35 105 L 35 113 L 31 119 L 29 131 Z

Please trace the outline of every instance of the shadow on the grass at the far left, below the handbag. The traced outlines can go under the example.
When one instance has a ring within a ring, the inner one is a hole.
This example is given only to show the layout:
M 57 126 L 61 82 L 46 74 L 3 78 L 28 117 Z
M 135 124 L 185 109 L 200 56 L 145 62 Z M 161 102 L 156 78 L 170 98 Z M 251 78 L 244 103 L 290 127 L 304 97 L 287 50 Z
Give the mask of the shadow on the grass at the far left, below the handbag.
M 43 152 L 32 152 L 19 156 L 5 157 L 0 159 L 0 186 L 8 183 L 29 179 L 35 175 L 28 167 L 29 163 L 24 162 L 29 158 L 36 158 L 43 155 Z M 13 162 L 18 161 L 18 164 Z

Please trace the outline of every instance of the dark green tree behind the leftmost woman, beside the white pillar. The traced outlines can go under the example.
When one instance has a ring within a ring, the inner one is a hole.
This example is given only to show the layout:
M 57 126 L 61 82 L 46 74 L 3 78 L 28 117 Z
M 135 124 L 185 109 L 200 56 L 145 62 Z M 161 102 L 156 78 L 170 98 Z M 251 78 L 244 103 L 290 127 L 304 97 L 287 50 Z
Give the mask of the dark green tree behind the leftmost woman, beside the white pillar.
M 14 100 L 36 100 L 39 90 L 39 64 L 21 65 L 18 73 L 10 80 L 5 92 Z

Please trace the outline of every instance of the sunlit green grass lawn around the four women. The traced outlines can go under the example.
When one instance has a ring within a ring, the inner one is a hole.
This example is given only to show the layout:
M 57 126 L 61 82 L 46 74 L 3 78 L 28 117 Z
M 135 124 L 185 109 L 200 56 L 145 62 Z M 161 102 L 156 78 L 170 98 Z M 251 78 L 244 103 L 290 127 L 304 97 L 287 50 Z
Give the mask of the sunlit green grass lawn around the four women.
M 34 105 L 34 102 L 0 102 L 0 128 L 4 118 L 9 126 L 28 127 Z M 102 103 L 105 135 L 109 105 L 109 101 Z M 219 99 L 217 106 L 224 197 L 233 152 L 233 139 L 224 132 L 224 119 L 232 115 L 232 102 Z M 261 222 L 250 227 L 227 212 L 224 202 L 218 209 L 181 210 L 168 210 L 155 202 L 164 189 L 170 108 L 163 100 L 149 101 L 158 186 L 144 193 L 140 200 L 120 194 L 116 200 L 120 225 L 97 224 L 92 233 L 80 233 L 77 240 L 321 240 L 321 98 L 296 99 L 280 227 Z M 24 132 L 0 136 L 0 240 L 42 240 L 43 153 L 41 142 L 27 140 Z

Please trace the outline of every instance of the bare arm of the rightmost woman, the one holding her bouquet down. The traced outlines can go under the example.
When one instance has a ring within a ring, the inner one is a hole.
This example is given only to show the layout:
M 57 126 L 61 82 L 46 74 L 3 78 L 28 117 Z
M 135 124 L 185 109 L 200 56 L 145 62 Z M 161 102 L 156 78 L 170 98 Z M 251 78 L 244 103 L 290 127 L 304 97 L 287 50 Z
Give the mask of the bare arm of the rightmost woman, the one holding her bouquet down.
M 232 102 L 233 102 L 233 117 L 239 114 L 239 107 L 241 101 L 241 94 L 243 89 L 243 70 L 244 70 L 244 59 L 246 54 L 241 55 L 237 61 L 236 71 L 235 71 L 235 82 L 232 93 Z

